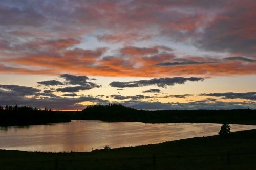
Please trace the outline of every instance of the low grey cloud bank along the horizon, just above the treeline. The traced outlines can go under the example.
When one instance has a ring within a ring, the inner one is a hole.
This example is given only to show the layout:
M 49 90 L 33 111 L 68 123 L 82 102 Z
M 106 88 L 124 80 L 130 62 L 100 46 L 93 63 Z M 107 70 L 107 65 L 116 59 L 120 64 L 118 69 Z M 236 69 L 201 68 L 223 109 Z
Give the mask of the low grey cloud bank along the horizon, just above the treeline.
M 32 107 L 48 107 L 52 109 L 66 109 L 66 110 L 76 110 L 83 109 L 84 106 L 78 103 L 84 101 L 96 102 L 100 104 L 106 104 L 109 101 L 102 100 L 102 96 L 80 96 L 79 98 L 65 98 L 56 96 L 51 93 L 40 93 L 38 89 L 34 89 L 32 87 L 25 86 L 17 86 L 17 85 L 1 85 L 0 86 L 0 105 L 29 105 Z M 10 91 L 5 91 L 10 90 Z M 36 97 L 25 97 L 28 92 L 31 95 L 35 95 Z M 15 95 L 14 95 L 15 94 Z M 184 94 L 190 95 L 190 94 Z M 219 96 L 229 99 L 241 98 L 241 99 L 251 99 L 255 101 L 256 92 L 248 92 L 248 93 L 211 93 L 211 94 L 200 94 L 206 96 Z M 39 96 L 39 98 L 38 98 Z M 45 97 L 46 96 L 46 97 Z M 71 96 L 71 95 L 70 95 Z M 175 95 L 174 95 L 175 96 Z M 177 95 L 178 96 L 178 95 Z M 183 95 L 180 95 L 183 96 Z M 72 97 L 72 96 L 71 96 Z M 188 103 L 161 103 L 161 102 L 146 102 L 140 101 L 139 99 L 145 98 L 154 98 L 151 96 L 120 96 L 120 95 L 112 95 L 115 99 L 131 99 L 130 101 L 125 101 L 121 104 L 137 109 L 150 109 L 150 110 L 162 110 L 162 109 L 247 109 L 247 108 L 256 108 L 255 102 L 221 102 L 216 99 L 207 98 L 205 100 L 199 100 Z M 210 102 L 210 103 L 209 103 Z

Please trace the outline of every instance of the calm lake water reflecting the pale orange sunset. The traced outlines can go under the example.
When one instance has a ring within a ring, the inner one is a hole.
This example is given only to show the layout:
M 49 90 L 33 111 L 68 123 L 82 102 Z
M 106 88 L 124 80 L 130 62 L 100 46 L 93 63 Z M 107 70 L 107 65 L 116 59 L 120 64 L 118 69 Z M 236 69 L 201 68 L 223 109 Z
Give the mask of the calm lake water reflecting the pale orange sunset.
M 217 135 L 221 124 L 101 122 L 0 127 L 0 149 L 23 151 L 92 151 L 105 145 L 129 147 L 199 136 Z M 254 125 L 230 125 L 231 131 L 256 129 Z

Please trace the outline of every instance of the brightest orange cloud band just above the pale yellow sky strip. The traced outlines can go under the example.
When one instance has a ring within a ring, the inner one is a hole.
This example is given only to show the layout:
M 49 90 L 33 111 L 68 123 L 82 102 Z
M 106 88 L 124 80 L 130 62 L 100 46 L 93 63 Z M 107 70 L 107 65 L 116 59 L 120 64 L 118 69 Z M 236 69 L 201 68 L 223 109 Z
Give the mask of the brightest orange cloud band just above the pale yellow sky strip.
M 175 60 L 176 56 L 172 53 L 155 54 L 158 50 L 154 48 L 125 48 L 126 57 L 100 57 L 106 51 L 105 48 L 96 50 L 74 49 L 64 52 L 62 55 L 28 55 L 22 58 L 5 59 L 5 62 L 25 65 L 28 68 L 21 69 L 3 67 L 1 72 L 17 72 L 27 74 L 61 74 L 70 72 L 82 75 L 99 76 L 135 76 L 135 77 L 163 77 L 180 75 L 203 75 L 203 76 L 226 76 L 226 75 L 249 75 L 256 73 L 255 62 L 228 61 L 216 59 L 203 59 L 199 57 L 188 57 L 187 59 L 203 61 L 200 64 L 184 64 L 172 66 L 156 65 L 162 61 Z M 130 50 L 132 49 L 132 50 Z M 120 50 L 122 51 L 122 49 Z M 136 53 L 137 52 L 137 53 Z M 127 54 L 130 56 L 127 57 Z M 212 62 L 214 61 L 214 62 Z M 138 66 L 139 64 L 139 66 Z

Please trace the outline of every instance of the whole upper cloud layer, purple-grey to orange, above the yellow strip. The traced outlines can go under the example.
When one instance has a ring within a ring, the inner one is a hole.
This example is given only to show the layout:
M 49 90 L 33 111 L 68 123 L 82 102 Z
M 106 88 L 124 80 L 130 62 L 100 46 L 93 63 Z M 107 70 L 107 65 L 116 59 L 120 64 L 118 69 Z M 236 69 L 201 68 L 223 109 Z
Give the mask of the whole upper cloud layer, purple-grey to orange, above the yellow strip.
M 160 37 L 252 58 L 256 52 L 255 1 L 24 3 L 22 7 L 0 3 L 1 72 L 137 77 L 255 74 L 254 62 L 180 59 L 160 40 L 151 47 L 131 46 Z M 108 48 L 74 48 L 84 35 L 126 46 L 111 57 L 104 56 Z

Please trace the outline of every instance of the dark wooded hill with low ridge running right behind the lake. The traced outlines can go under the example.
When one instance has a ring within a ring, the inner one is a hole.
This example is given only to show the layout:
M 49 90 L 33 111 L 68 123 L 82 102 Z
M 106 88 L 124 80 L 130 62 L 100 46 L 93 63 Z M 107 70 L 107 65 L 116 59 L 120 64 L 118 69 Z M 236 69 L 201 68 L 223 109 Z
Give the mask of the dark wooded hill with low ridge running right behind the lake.
M 77 114 L 75 119 L 132 121 L 144 123 L 233 123 L 256 125 L 256 110 L 137 110 L 120 104 L 94 105 Z

